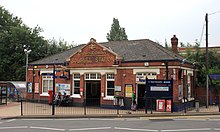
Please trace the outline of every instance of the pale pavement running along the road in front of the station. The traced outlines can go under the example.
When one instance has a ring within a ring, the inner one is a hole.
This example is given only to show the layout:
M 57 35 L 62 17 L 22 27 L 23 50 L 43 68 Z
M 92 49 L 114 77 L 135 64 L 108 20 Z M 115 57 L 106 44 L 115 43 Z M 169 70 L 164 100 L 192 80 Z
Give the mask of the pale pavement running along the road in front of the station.
M 36 106 L 38 108 L 41 108 L 40 106 Z M 32 109 L 33 106 L 30 106 L 26 109 Z M 7 105 L 0 105 L 0 119 L 14 119 L 14 118 L 137 118 L 137 117 L 145 117 L 145 118 L 183 118 L 188 116 L 217 116 L 220 115 L 218 106 L 209 106 L 208 108 L 200 107 L 199 112 L 196 112 L 195 110 L 187 111 L 186 113 L 184 111 L 181 112 L 156 112 L 148 111 L 147 114 L 145 114 L 144 111 L 129 111 L 129 110 L 120 110 L 120 114 L 117 114 L 112 112 L 112 110 L 103 110 L 102 112 L 94 109 L 87 110 L 89 111 L 89 114 L 84 115 L 83 109 L 74 109 L 74 113 L 68 114 L 68 110 L 71 110 L 71 107 L 57 107 L 55 115 L 51 115 L 51 106 L 48 105 L 48 113 L 44 114 L 27 114 L 21 116 L 21 103 L 20 102 L 9 102 Z M 43 108 L 46 111 L 46 108 Z M 61 111 L 59 113 L 59 111 Z M 73 111 L 73 110 L 71 110 Z M 100 113 L 99 113 L 100 112 Z

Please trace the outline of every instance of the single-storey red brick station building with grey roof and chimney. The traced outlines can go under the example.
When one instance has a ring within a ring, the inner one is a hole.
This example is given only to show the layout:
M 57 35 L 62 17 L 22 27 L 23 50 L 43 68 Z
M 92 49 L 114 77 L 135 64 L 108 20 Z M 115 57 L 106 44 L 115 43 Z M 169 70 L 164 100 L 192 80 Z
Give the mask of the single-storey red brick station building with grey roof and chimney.
M 26 97 L 46 100 L 55 83 L 55 92 L 66 92 L 79 105 L 86 97 L 88 104 L 89 100 L 95 100 L 99 106 L 112 106 L 116 94 L 124 98 L 126 105 L 135 93 L 141 108 L 143 79 L 147 77 L 173 78 L 173 101 L 181 101 L 183 97 L 192 100 L 194 65 L 178 55 L 175 35 L 171 42 L 174 52 L 148 39 L 105 43 L 90 39 L 87 44 L 30 63 Z M 55 81 L 54 69 L 58 76 Z M 116 89 L 121 92 L 116 93 Z

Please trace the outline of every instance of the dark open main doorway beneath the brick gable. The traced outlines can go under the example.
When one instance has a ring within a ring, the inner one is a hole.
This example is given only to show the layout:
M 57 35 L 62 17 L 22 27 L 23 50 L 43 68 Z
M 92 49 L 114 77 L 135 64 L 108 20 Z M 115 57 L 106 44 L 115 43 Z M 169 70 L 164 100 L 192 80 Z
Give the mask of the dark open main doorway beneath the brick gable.
M 101 82 L 86 81 L 86 105 L 100 106 Z

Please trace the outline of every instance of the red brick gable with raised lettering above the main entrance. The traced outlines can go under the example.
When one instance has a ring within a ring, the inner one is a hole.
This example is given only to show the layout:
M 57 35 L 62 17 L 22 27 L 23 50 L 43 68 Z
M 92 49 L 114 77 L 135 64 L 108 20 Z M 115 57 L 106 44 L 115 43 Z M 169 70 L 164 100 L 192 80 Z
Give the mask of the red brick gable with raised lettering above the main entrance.
M 112 66 L 117 54 L 104 46 L 90 41 L 82 49 L 74 53 L 69 60 L 70 67 L 102 67 Z

